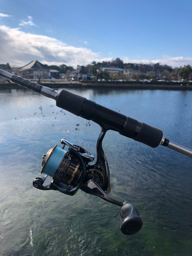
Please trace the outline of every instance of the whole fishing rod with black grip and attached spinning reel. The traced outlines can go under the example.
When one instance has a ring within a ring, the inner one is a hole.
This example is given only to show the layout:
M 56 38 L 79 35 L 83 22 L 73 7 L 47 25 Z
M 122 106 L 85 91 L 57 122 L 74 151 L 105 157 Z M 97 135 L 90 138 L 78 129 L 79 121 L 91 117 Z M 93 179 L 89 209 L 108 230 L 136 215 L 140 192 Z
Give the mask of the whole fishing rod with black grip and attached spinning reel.
M 130 235 L 138 232 L 143 223 L 133 204 L 127 201 L 117 201 L 108 195 L 111 192 L 110 169 L 102 148 L 105 133 L 108 130 L 113 130 L 153 148 L 162 145 L 192 157 L 192 150 L 166 139 L 160 129 L 126 117 L 92 100 L 66 90 L 58 93 L 55 89 L 41 86 L 1 69 L 0 76 L 52 98 L 59 108 L 100 125 L 101 132 L 96 144 L 97 159 L 94 164 L 91 164 L 94 160 L 92 154 L 67 139 L 61 139 L 62 148 L 55 145 L 42 156 L 41 174 L 45 176 L 35 178 L 33 186 L 41 190 L 57 190 L 70 196 L 74 196 L 77 190 L 81 189 L 88 194 L 120 206 L 120 230 L 123 234 Z M 65 150 L 66 146 L 68 146 L 68 150 Z M 52 182 L 44 186 L 48 176 L 52 177 Z

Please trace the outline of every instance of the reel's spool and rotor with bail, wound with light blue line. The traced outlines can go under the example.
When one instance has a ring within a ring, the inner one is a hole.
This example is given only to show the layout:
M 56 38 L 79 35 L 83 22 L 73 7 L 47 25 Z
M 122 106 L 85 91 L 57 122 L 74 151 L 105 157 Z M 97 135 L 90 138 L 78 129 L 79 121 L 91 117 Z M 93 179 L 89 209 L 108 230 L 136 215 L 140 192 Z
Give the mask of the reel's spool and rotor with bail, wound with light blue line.
M 55 145 L 51 148 L 41 163 L 41 174 L 45 177 L 37 177 L 33 186 L 41 190 L 59 190 L 63 194 L 74 196 L 82 186 L 86 175 L 86 165 L 93 161 L 94 157 L 80 146 L 76 146 L 66 139 L 61 140 L 62 148 Z M 65 151 L 65 146 L 69 150 Z M 52 177 L 51 184 L 44 186 L 46 178 Z

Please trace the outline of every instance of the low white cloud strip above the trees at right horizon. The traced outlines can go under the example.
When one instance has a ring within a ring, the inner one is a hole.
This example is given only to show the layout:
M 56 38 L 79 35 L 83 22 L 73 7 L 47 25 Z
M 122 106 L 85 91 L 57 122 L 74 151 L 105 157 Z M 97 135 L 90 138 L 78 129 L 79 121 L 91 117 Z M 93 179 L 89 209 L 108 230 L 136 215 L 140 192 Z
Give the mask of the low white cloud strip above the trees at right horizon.
M 127 57 L 124 57 L 123 59 L 124 63 L 143 63 L 143 64 L 155 64 L 160 63 L 161 65 L 167 65 L 175 67 L 183 67 L 184 65 L 190 65 L 192 66 L 192 58 L 184 58 L 184 57 L 171 57 L 171 56 L 163 56 L 160 59 L 150 60 L 150 59 L 129 59 Z

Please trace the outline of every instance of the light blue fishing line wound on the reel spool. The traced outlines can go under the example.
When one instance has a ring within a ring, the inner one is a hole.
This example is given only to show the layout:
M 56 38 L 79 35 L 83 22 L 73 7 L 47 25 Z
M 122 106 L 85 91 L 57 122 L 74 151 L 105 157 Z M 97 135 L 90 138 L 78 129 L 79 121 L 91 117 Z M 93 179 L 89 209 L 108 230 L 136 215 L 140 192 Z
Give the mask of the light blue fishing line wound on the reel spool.
M 49 160 L 46 163 L 43 173 L 53 177 L 66 152 L 67 151 L 62 150 L 62 148 L 56 146 L 55 150 L 53 151 Z

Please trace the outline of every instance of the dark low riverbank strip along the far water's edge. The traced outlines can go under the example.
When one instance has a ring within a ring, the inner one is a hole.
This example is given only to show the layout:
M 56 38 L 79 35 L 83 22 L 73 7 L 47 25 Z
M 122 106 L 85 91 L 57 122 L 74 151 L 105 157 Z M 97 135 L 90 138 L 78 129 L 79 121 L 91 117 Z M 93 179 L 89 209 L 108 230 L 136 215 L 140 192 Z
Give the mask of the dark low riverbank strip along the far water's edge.
M 181 90 L 192 91 L 192 83 L 175 83 L 175 82 L 41 82 L 42 86 L 49 88 L 121 88 L 130 90 Z M 16 83 L 0 83 L 1 89 L 19 89 L 21 88 Z

